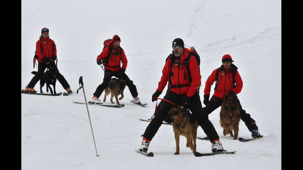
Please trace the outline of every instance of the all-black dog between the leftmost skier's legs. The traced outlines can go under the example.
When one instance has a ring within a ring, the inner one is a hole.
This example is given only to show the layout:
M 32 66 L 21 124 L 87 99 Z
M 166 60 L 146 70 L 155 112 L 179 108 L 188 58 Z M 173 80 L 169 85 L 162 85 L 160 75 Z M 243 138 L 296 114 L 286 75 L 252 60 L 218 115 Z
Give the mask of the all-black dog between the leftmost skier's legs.
M 37 74 L 38 72 L 33 71 L 32 74 Z M 51 94 L 56 93 L 56 81 L 57 81 L 57 69 L 56 68 L 49 68 L 45 73 L 43 73 L 43 76 L 40 79 L 40 93 L 42 92 L 42 87 L 46 83 L 46 92 L 49 92 Z M 50 85 L 53 85 L 53 89 L 50 87 Z

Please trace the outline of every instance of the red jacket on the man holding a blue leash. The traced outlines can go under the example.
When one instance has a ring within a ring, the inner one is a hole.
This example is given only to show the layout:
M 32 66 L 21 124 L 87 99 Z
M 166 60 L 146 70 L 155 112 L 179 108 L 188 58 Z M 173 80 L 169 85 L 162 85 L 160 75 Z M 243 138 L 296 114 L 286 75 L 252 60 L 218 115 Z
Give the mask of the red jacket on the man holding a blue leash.
M 97 56 L 97 61 L 100 59 L 104 59 L 105 57 L 107 57 L 108 53 L 109 53 L 109 47 L 111 47 L 112 53 L 109 56 L 109 60 L 108 60 L 108 64 L 104 67 L 106 69 L 109 69 L 111 71 L 119 71 L 121 69 L 121 63 L 120 60 L 122 61 L 122 68 L 127 67 L 127 59 L 124 53 L 124 50 L 119 46 L 117 49 L 113 48 L 113 41 L 109 41 L 108 43 L 106 43 L 107 47 L 105 47 L 103 49 L 103 51 L 101 52 L 101 54 L 99 56 Z M 121 55 L 120 52 L 121 51 Z

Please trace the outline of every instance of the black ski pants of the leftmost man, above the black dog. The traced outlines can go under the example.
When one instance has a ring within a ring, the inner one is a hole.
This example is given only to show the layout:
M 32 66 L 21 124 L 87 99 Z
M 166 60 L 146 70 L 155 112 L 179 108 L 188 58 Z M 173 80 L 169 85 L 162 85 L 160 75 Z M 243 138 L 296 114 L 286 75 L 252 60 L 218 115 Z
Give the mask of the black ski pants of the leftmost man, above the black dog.
M 32 80 L 29 82 L 29 84 L 26 87 L 34 88 L 35 85 L 37 84 L 37 82 L 43 76 L 43 73 L 44 73 L 46 68 L 47 68 L 47 66 L 46 66 L 45 63 L 38 62 L 38 73 L 35 74 L 35 76 L 32 78 Z M 57 80 L 60 82 L 60 84 L 63 86 L 64 89 L 69 88 L 70 85 L 67 83 L 64 76 L 61 73 L 59 73 L 59 70 L 58 70 L 55 62 L 50 64 L 50 68 L 56 68 L 57 69 Z

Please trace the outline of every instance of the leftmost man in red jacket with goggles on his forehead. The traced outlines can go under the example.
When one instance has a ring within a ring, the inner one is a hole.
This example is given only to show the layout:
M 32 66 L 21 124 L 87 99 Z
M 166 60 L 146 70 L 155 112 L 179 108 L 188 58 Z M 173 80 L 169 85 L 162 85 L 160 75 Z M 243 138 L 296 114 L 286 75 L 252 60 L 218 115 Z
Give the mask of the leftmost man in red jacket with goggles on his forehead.
M 34 89 L 37 82 L 43 76 L 46 68 L 57 69 L 57 79 L 67 93 L 71 93 L 70 85 L 67 83 L 62 74 L 59 73 L 55 60 L 57 59 L 57 48 L 55 42 L 49 38 L 49 29 L 42 28 L 40 39 L 36 42 L 36 54 L 38 61 L 38 73 L 32 78 L 25 88 L 25 92 L 36 93 Z

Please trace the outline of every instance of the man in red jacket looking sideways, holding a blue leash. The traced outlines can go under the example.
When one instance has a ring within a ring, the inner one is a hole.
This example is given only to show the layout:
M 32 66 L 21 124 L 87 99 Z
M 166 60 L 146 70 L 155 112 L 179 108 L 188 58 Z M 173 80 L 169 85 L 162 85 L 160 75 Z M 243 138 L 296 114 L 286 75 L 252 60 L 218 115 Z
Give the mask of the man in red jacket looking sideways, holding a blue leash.
M 92 97 L 92 103 L 101 104 L 99 100 L 104 89 L 109 85 L 110 79 L 114 76 L 118 79 L 124 79 L 127 87 L 130 89 L 130 93 L 133 96 L 135 103 L 140 104 L 140 99 L 138 97 L 137 87 L 134 85 L 133 81 L 124 73 L 127 67 L 127 59 L 124 50 L 120 47 L 121 39 L 118 35 L 113 36 L 113 40 L 109 41 L 101 52 L 97 56 L 97 64 L 102 63 L 102 59 L 106 59 L 105 73 L 102 84 L 100 84 Z M 121 62 L 122 67 L 121 67 Z

